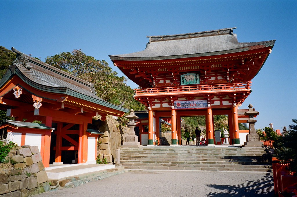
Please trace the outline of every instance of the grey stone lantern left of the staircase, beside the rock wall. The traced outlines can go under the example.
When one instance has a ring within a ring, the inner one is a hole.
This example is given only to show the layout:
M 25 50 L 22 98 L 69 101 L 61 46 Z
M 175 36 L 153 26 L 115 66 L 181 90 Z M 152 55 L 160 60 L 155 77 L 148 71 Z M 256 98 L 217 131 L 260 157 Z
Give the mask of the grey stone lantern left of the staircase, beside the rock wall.
M 125 141 L 123 142 L 123 146 L 126 147 L 139 147 L 140 142 L 138 142 L 138 136 L 135 135 L 134 127 L 136 126 L 135 120 L 138 119 L 138 116 L 134 114 L 134 110 L 130 110 L 130 114 L 128 116 L 125 116 L 125 118 L 129 119 L 128 127 L 129 127 L 129 133 L 126 135 Z

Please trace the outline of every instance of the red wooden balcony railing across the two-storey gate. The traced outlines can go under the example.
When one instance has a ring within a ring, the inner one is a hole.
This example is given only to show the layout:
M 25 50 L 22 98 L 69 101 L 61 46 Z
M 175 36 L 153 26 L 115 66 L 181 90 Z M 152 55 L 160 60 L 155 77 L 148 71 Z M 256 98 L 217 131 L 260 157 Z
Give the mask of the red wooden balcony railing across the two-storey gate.
M 170 94 L 170 93 L 185 93 L 185 92 L 209 92 L 209 91 L 236 91 L 250 89 L 252 82 L 248 83 L 226 83 L 226 84 L 204 84 L 191 86 L 173 86 L 173 87 L 158 87 L 148 89 L 135 89 L 135 95 L 141 94 Z

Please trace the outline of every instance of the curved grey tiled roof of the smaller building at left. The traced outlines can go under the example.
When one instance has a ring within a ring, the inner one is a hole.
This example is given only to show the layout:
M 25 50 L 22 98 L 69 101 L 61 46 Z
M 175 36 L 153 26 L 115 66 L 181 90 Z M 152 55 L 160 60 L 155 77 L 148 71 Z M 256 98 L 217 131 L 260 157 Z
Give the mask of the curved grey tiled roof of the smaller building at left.
M 109 103 L 95 95 L 93 84 L 77 78 L 69 73 L 59 70 L 49 64 L 20 53 L 17 59 L 9 66 L 9 70 L 0 80 L 0 86 L 6 83 L 12 75 L 18 75 L 30 86 L 45 92 L 66 94 L 81 100 L 112 108 L 121 112 L 128 112 L 129 109 Z

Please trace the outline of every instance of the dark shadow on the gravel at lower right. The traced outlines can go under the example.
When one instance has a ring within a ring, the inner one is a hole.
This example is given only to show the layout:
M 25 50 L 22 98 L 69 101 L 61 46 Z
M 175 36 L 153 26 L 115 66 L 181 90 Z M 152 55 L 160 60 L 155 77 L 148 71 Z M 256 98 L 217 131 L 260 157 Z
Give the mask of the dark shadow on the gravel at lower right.
M 273 176 L 264 175 L 256 181 L 246 181 L 240 185 L 208 185 L 208 187 L 221 190 L 219 193 L 210 192 L 206 196 L 209 197 L 225 197 L 225 196 L 274 196 Z

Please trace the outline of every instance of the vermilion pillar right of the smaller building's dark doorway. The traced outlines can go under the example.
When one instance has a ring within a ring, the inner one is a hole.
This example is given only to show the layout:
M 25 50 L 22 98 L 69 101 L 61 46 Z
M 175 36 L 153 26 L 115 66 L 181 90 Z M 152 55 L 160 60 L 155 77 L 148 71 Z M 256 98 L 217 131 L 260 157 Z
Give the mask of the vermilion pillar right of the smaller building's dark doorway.
M 78 163 L 86 163 L 88 160 L 88 123 L 79 125 L 78 139 Z

